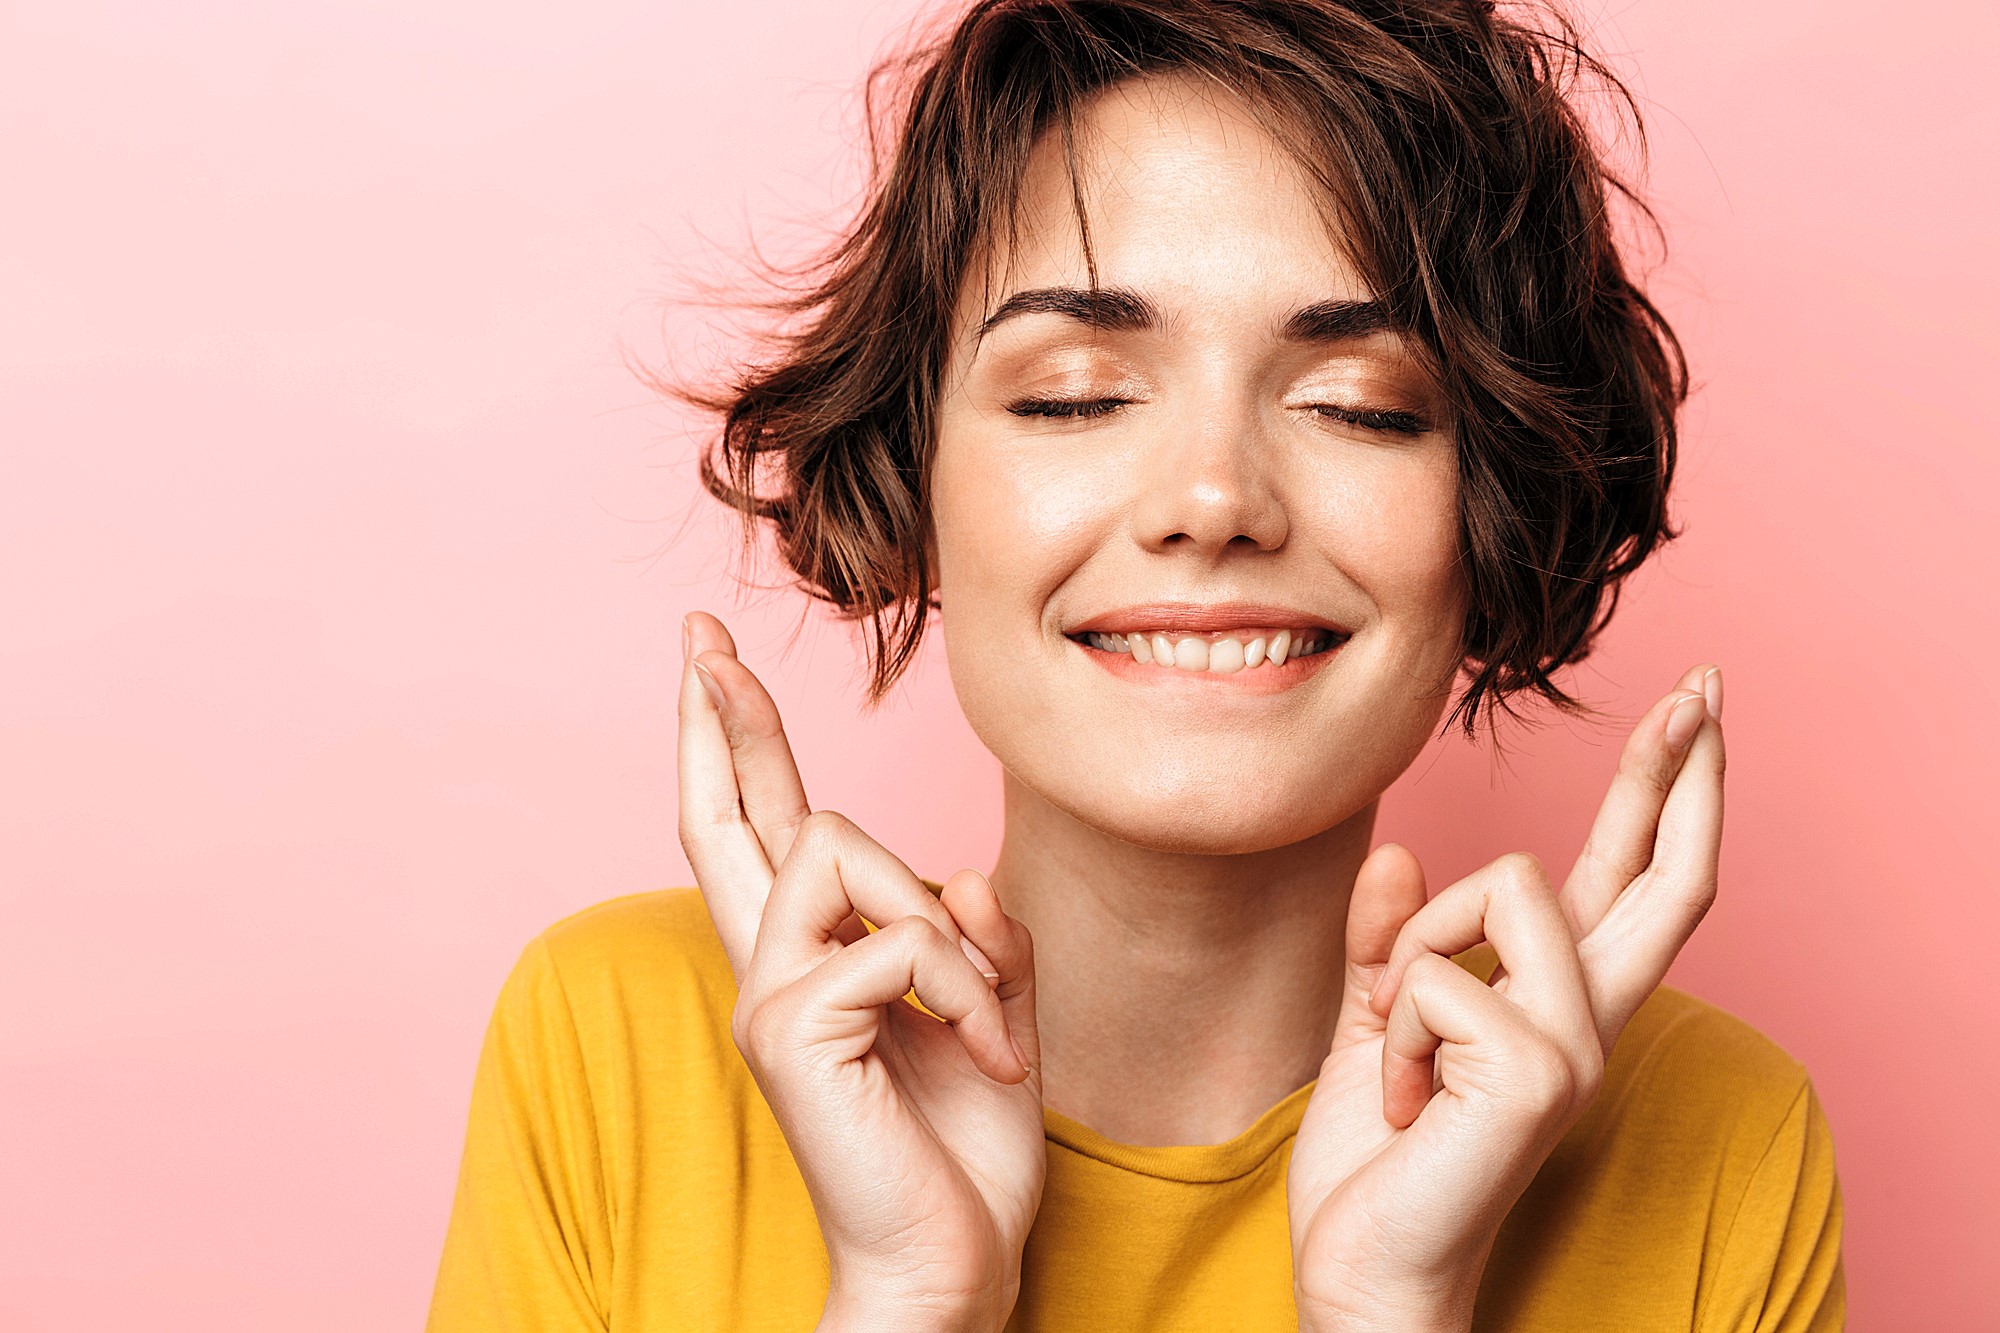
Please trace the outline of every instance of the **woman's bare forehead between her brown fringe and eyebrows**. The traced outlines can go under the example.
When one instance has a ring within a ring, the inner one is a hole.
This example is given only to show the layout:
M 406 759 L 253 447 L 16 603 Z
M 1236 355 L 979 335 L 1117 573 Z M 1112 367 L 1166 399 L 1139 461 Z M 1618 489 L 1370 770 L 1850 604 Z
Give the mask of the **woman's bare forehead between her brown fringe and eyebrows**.
M 1008 292 L 1088 286 L 1078 206 L 1100 286 L 1144 290 L 1172 312 L 1372 296 L 1324 182 L 1240 96 L 1188 74 L 1134 78 L 1078 108 L 1072 156 L 1044 132 L 1014 204 L 966 268 L 956 326 L 968 332 Z M 1258 310 L 1252 310 L 1256 306 Z

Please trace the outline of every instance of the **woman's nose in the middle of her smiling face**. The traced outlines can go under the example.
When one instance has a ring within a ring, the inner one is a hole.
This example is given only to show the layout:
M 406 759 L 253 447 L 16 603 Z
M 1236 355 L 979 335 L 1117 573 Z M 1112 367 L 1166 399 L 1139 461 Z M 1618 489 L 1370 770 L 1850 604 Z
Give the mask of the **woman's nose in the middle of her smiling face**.
M 1276 466 L 1254 402 L 1190 402 L 1144 448 L 1134 536 L 1148 550 L 1276 550 L 1290 530 Z

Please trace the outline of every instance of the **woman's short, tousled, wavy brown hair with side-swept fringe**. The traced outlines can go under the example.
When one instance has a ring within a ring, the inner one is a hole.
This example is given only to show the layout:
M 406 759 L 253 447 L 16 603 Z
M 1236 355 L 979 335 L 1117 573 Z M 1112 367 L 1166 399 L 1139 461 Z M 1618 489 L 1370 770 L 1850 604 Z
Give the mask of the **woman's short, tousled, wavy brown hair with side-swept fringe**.
M 1324 188 L 1452 406 L 1470 683 L 1444 729 L 1462 719 L 1472 737 L 1482 703 L 1512 713 L 1520 691 L 1590 713 L 1550 673 L 1588 654 L 1620 580 L 1678 536 L 1666 496 L 1688 370 L 1628 276 L 1612 204 L 1658 224 L 1578 92 L 1610 92 L 1642 150 L 1638 106 L 1560 10 L 978 0 L 872 70 L 864 206 L 760 302 L 786 320 L 770 354 L 722 390 L 662 384 L 722 418 L 702 484 L 740 510 L 746 544 L 768 522 L 796 580 L 868 622 L 878 703 L 934 606 L 930 460 L 966 268 L 1000 222 L 1012 234 L 1044 132 L 1074 166 L 1080 104 L 1166 72 L 1238 94 Z

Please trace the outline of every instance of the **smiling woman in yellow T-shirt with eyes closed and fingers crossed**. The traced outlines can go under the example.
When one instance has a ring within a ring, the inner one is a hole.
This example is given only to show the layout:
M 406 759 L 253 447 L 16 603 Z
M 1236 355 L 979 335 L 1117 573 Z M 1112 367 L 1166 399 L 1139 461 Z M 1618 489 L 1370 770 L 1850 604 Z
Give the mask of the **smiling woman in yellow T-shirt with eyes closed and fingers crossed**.
M 432 1327 L 1840 1327 L 1806 1071 L 1660 987 L 1720 671 L 1560 889 L 1370 851 L 1460 673 L 1468 735 L 1578 709 L 1550 673 L 1674 536 L 1596 66 L 1454 0 L 986 0 L 908 70 L 704 478 L 870 624 L 872 697 L 940 610 L 998 863 L 810 811 L 688 616 L 700 883 L 528 947 Z

